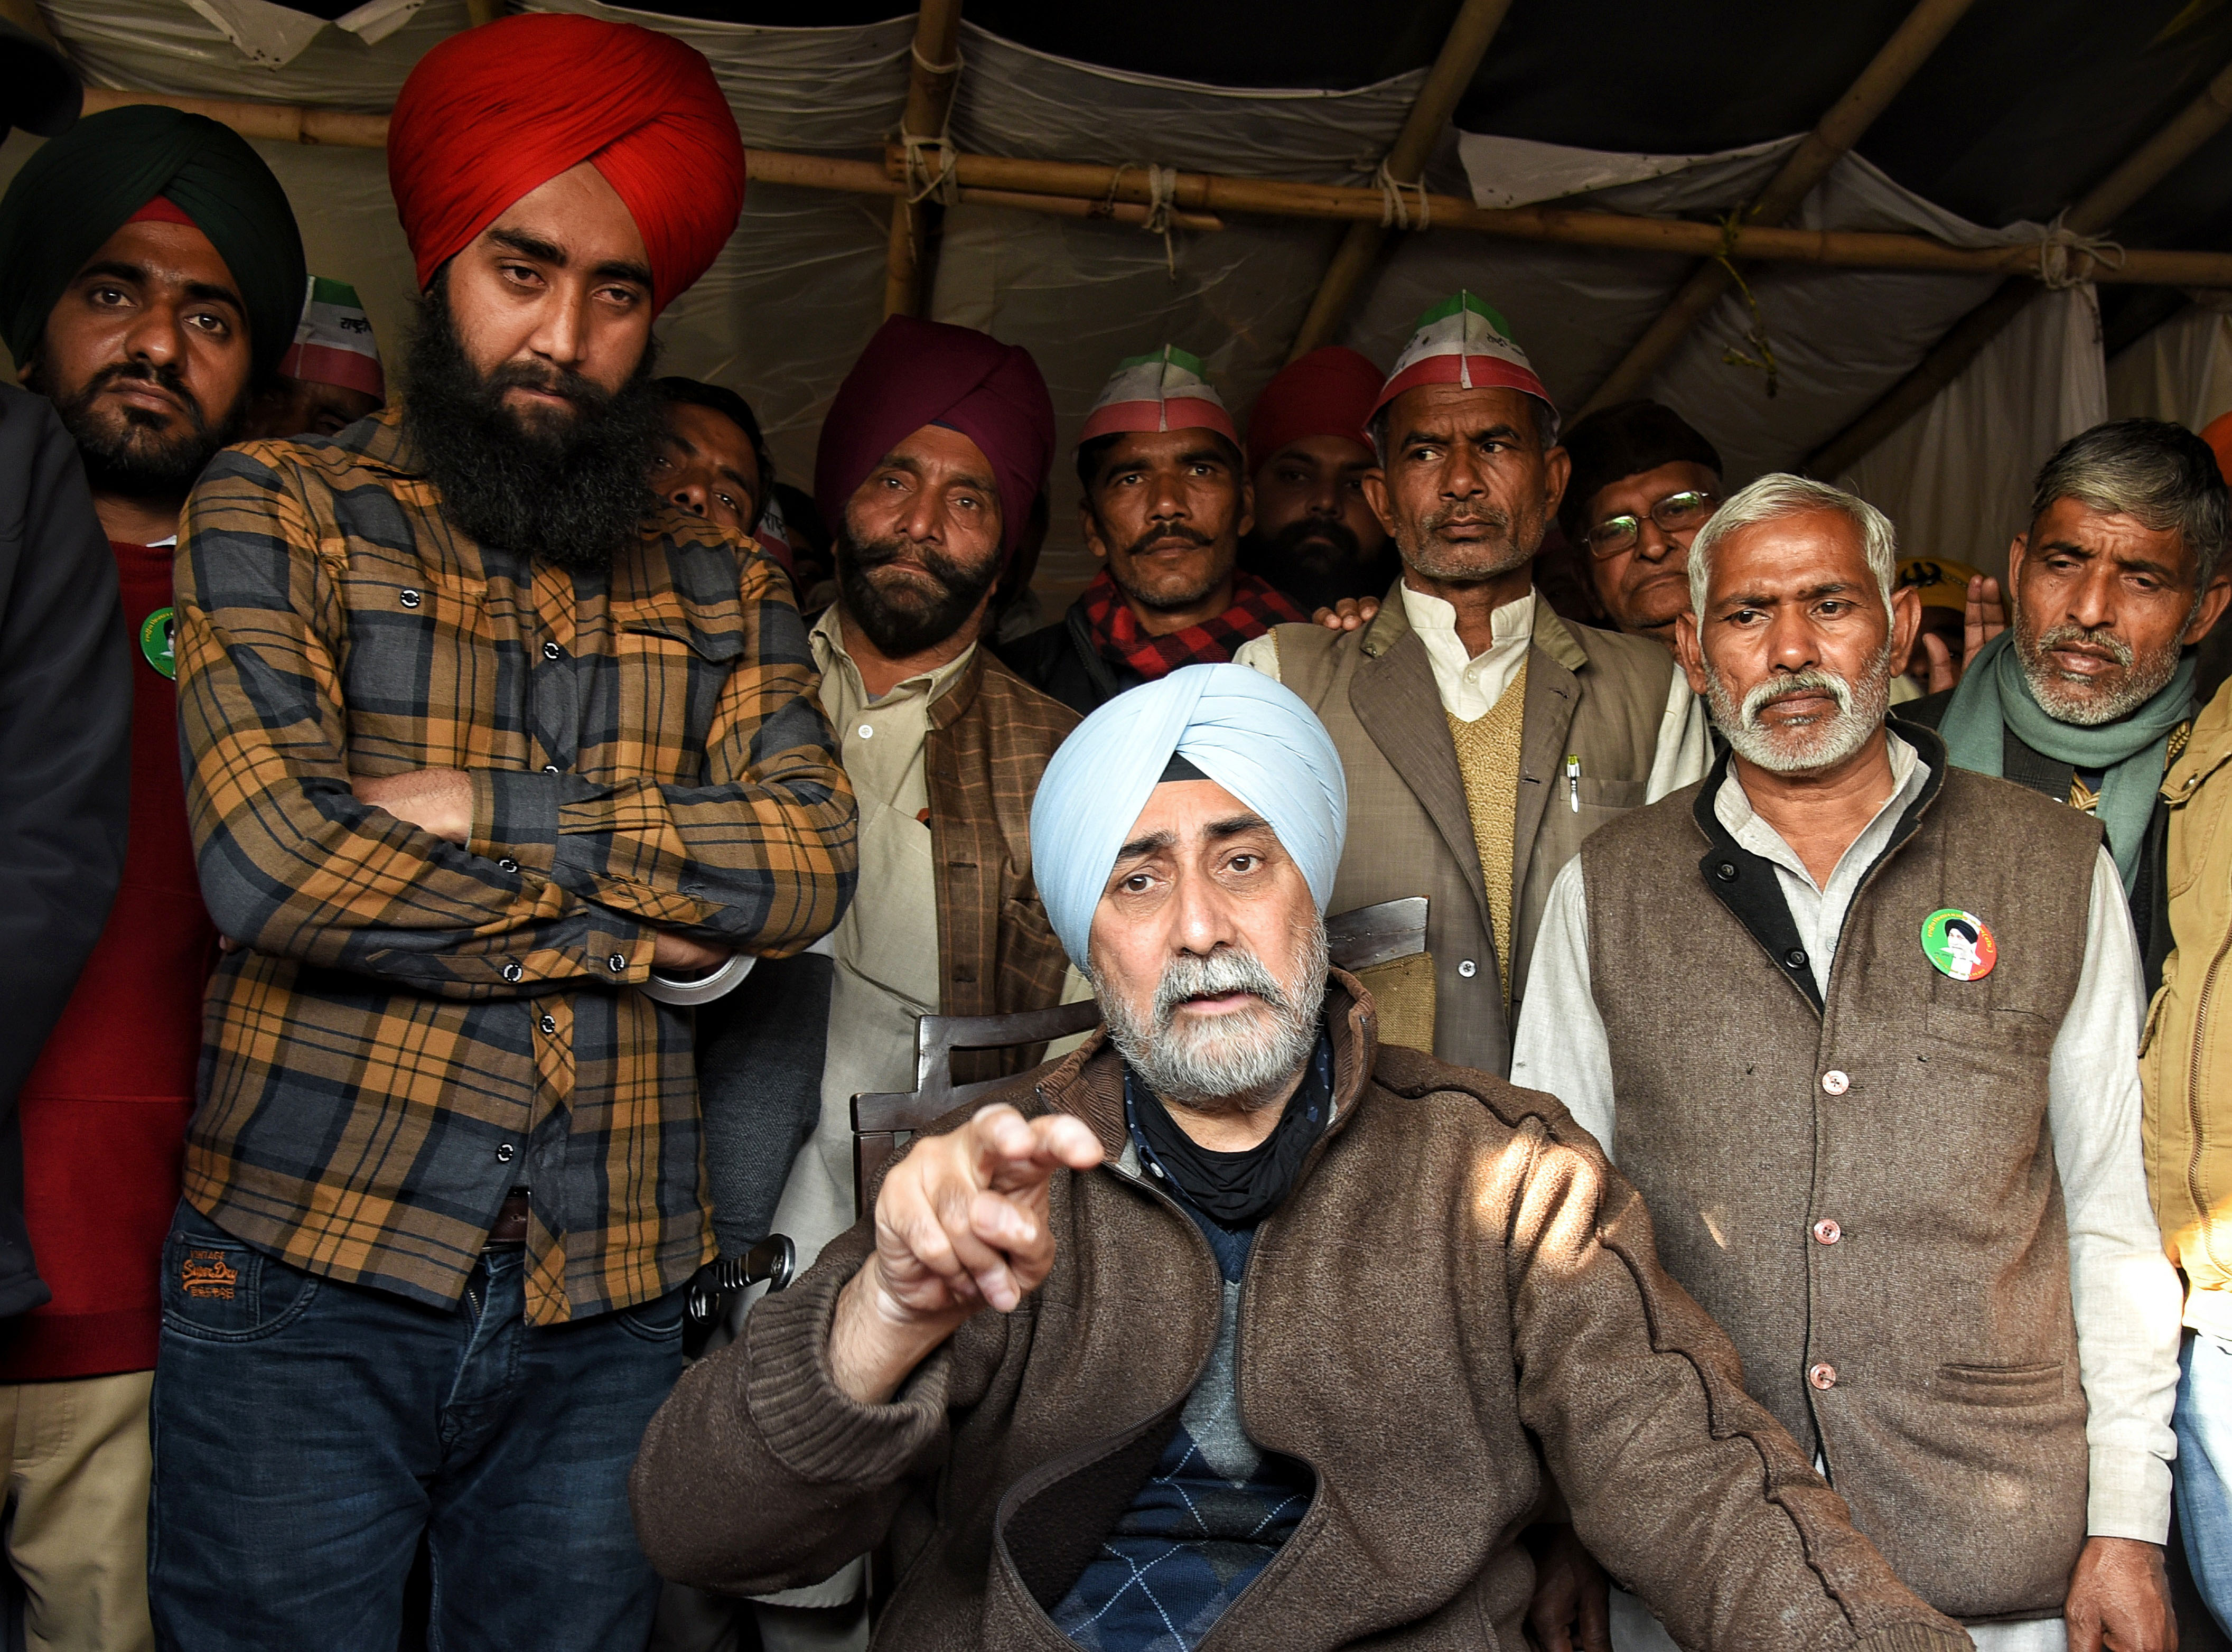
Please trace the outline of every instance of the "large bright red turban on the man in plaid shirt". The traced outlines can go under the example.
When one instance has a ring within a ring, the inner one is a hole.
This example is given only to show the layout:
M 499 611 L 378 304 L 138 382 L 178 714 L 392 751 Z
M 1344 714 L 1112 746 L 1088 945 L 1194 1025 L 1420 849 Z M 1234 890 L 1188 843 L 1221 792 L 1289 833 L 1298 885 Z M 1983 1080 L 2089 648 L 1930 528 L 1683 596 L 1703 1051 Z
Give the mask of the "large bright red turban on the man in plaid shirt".
M 705 56 L 632 22 L 538 11 L 420 58 L 388 121 L 388 188 L 420 286 L 583 161 L 636 219 L 663 310 L 743 210 L 743 138 Z

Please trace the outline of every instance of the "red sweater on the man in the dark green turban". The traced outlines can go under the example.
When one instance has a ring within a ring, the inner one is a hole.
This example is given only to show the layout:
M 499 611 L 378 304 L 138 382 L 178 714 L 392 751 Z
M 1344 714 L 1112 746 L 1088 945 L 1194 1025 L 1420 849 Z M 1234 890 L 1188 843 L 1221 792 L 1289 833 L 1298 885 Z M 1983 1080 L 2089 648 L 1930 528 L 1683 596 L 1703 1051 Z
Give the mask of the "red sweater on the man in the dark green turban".
M 132 837 L 107 929 L 22 1087 L 22 1194 L 54 1302 L 13 1322 L 0 1382 L 154 1366 L 217 929 L 179 768 L 167 545 L 112 545 L 132 638 Z

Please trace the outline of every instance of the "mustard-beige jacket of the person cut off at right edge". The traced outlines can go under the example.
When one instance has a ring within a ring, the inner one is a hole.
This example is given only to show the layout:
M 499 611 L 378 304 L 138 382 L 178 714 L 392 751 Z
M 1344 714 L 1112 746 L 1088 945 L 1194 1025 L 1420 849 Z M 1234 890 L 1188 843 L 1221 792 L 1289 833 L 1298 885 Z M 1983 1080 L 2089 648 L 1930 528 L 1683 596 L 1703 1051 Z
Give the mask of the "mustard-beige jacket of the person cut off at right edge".
M 2170 804 L 2170 935 L 2147 1014 L 2147 1192 L 2163 1250 L 2185 1270 L 2185 1324 L 2232 1337 L 2232 683 L 2194 719 L 2163 777 Z

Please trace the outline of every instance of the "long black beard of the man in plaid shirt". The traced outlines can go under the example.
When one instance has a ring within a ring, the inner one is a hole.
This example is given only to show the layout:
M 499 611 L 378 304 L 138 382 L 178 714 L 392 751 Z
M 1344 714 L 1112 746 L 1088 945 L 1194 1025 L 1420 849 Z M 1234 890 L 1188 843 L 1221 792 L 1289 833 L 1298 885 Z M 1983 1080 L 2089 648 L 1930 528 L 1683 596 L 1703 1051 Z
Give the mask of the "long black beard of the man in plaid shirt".
M 442 513 L 482 545 L 571 572 L 609 569 L 656 509 L 650 473 L 667 431 L 643 350 L 618 393 L 580 373 L 504 362 L 482 373 L 464 353 L 444 277 L 420 299 L 404 359 L 404 431 L 437 489 Z M 513 386 L 574 402 L 562 420 L 520 420 Z

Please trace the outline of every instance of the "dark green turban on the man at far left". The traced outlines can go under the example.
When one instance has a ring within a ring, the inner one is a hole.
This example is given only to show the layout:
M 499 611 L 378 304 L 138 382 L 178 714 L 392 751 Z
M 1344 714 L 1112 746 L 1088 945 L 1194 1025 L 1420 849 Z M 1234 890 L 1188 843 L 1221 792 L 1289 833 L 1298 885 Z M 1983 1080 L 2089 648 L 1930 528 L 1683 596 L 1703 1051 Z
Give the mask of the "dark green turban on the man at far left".
M 0 337 L 22 366 L 78 270 L 156 196 L 185 212 L 248 306 L 257 377 L 295 342 L 308 272 L 279 179 L 248 138 L 147 103 L 78 121 L 0 196 Z

